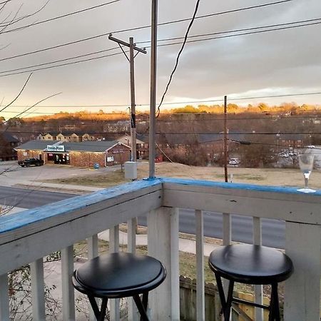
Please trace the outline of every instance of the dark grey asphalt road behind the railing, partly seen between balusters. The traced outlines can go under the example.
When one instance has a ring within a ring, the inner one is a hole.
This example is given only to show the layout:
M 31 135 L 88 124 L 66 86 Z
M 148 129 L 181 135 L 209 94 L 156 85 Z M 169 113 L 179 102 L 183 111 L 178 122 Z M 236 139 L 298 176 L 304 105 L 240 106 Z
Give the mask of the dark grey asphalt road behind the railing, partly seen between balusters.
M 0 187 L 0 204 L 18 206 L 19 208 L 36 208 L 58 200 L 65 200 L 75 195 L 68 193 L 48 192 L 44 190 L 27 190 L 24 188 Z M 146 218 L 138 218 L 138 223 L 146 225 Z M 252 218 L 232 215 L 233 240 L 252 242 Z M 193 210 L 180 209 L 180 232 L 195 234 L 195 215 Z M 277 220 L 262 220 L 263 245 L 284 248 L 285 223 Z M 205 212 L 204 235 L 222 238 L 222 215 Z

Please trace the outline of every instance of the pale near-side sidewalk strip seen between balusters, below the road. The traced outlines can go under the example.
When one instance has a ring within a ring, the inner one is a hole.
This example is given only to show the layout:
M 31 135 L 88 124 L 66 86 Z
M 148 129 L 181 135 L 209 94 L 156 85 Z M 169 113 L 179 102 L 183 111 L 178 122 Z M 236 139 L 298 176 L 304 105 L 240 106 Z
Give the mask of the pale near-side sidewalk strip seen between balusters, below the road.
M 105 230 L 101 233 L 98 233 L 98 238 L 101 240 L 109 241 L 109 230 Z M 119 244 L 127 245 L 127 233 L 119 231 Z M 147 245 L 147 235 L 146 234 L 137 234 L 136 235 L 136 245 Z M 204 255 L 209 256 L 210 253 L 218 248 L 220 245 L 203 243 L 204 245 Z M 196 254 L 196 247 L 194 240 L 186 240 L 185 238 L 180 238 L 178 243 L 178 248 L 180 251 L 185 253 Z

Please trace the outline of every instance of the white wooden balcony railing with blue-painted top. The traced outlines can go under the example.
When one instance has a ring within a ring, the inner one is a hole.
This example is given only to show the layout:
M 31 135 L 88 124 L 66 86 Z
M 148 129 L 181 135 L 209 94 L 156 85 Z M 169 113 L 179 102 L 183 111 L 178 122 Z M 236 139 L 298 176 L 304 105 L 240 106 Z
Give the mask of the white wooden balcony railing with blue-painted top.
M 223 243 L 231 240 L 230 214 L 253 217 L 253 243 L 261 243 L 260 219 L 286 222 L 286 253 L 295 272 L 285 282 L 285 321 L 320 320 L 321 193 L 303 195 L 295 189 L 154 179 L 121 185 L 91 195 L 26 210 L 0 218 L 0 320 L 9 320 L 7 273 L 31 264 L 34 320 L 45 320 L 42 258 L 61 250 L 63 320 L 75 320 L 73 244 L 87 239 L 88 257 L 98 253 L 97 233 L 110 229 L 110 250 L 118 251 L 118 224 L 128 222 L 128 250 L 136 248 L 138 215 L 148 213 L 148 254 L 161 260 L 168 277 L 153 290 L 151 320 L 179 320 L 178 208 L 195 210 L 197 316 L 204 320 L 203 211 L 223 213 Z M 262 287 L 255 289 L 262 300 Z M 136 319 L 129 304 L 129 319 Z M 262 312 L 256 312 L 260 320 Z M 91 319 L 93 316 L 91 316 Z M 119 320 L 118 301 L 111 320 Z

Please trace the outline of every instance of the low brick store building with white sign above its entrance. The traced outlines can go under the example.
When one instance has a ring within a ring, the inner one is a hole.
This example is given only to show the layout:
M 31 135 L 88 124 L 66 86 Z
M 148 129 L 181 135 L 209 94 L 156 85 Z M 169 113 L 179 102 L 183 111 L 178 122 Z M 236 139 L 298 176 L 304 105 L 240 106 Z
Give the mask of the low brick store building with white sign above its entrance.
M 18 161 L 40 158 L 45 164 L 101 167 L 125 163 L 131 158 L 131 148 L 118 141 L 29 141 L 16 148 Z

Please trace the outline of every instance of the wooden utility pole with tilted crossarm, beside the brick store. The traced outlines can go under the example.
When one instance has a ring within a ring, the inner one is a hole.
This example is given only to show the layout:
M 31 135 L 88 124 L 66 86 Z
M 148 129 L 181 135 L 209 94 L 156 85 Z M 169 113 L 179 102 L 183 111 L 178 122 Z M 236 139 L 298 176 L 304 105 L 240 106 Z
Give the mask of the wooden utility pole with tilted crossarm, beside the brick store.
M 133 42 L 133 37 L 129 38 L 129 44 L 120 39 L 114 38 L 111 34 L 108 36 L 108 39 L 111 41 L 115 41 L 123 51 L 123 54 L 126 56 L 129 61 L 129 71 L 131 76 L 131 161 L 136 162 L 137 154 L 136 154 L 136 103 L 135 103 L 135 68 L 134 68 L 134 59 L 138 55 L 138 53 L 147 54 L 145 49 L 141 49 L 135 46 Z M 123 50 L 122 46 L 129 47 L 129 58 L 126 55 L 126 52 Z M 134 56 L 134 51 L 138 51 Z

